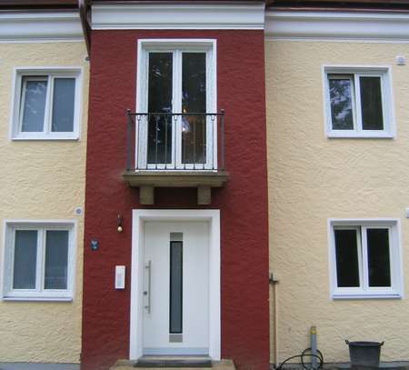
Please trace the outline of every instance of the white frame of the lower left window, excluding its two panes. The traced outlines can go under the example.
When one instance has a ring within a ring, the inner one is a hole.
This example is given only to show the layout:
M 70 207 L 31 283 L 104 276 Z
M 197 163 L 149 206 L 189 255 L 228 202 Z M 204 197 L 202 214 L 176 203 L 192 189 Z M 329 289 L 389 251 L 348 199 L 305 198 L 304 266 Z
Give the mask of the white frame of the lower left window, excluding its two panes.
M 37 261 L 35 289 L 13 289 L 14 251 L 16 230 L 37 230 Z M 68 231 L 67 288 L 44 289 L 45 282 L 45 231 Z M 75 291 L 75 258 L 77 225 L 75 220 L 5 220 L 3 241 L 4 301 L 63 301 L 71 302 Z

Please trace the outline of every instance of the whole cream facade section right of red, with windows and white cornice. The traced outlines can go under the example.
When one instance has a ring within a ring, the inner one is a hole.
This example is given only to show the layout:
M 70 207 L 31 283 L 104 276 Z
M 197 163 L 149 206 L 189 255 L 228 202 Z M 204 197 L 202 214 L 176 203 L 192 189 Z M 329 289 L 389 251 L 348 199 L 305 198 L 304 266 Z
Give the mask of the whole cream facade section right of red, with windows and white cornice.
M 407 360 L 407 14 L 276 7 L 265 30 L 272 359 L 316 325 L 325 362 L 345 339 Z

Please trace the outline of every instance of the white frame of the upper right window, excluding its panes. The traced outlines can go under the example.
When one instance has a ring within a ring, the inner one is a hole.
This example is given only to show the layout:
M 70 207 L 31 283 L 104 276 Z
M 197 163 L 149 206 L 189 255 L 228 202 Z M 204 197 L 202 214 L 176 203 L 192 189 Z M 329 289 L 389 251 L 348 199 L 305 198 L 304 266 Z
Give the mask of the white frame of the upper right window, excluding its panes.
M 354 129 L 334 130 L 331 115 L 331 100 L 329 95 L 328 75 L 354 75 L 353 86 L 353 117 Z M 362 128 L 360 76 L 376 76 L 381 78 L 382 110 L 384 129 L 364 130 Z M 327 137 L 360 137 L 360 138 L 394 138 L 394 97 L 392 89 L 392 68 L 390 65 L 323 65 L 324 91 L 324 123 Z

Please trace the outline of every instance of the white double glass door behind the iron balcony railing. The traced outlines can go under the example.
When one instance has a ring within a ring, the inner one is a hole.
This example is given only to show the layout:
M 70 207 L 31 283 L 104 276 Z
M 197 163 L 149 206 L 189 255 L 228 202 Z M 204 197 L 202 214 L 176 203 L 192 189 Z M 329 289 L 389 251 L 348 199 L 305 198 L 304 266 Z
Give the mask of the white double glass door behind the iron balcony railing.
M 136 163 L 152 170 L 215 169 L 213 47 L 141 50 Z

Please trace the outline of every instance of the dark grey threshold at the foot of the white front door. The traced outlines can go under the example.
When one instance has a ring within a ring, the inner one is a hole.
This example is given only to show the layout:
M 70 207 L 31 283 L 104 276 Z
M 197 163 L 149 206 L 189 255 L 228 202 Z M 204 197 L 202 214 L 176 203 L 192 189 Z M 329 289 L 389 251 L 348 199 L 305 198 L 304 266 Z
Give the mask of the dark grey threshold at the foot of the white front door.
M 204 355 L 144 355 L 135 367 L 212 367 L 212 359 Z

